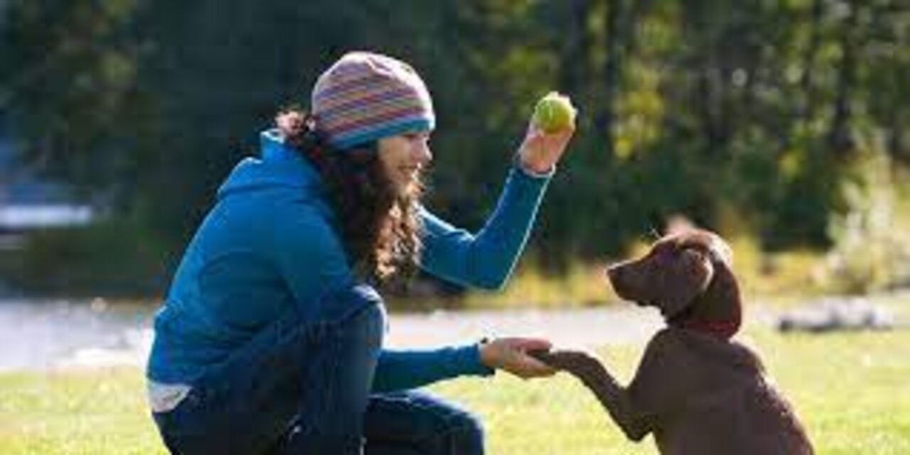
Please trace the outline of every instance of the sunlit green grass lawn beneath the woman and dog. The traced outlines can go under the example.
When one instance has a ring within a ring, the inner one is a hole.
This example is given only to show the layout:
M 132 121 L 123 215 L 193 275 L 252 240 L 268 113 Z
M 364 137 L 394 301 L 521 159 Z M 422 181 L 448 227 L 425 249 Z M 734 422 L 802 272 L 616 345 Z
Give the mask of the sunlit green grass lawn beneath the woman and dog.
M 910 331 L 780 336 L 751 330 L 821 454 L 910 453 Z M 602 349 L 627 379 L 641 347 Z M 492 454 L 656 453 L 634 444 L 570 378 L 461 379 L 435 391 L 486 422 Z M 165 453 L 144 407 L 141 372 L 0 375 L 0 453 Z

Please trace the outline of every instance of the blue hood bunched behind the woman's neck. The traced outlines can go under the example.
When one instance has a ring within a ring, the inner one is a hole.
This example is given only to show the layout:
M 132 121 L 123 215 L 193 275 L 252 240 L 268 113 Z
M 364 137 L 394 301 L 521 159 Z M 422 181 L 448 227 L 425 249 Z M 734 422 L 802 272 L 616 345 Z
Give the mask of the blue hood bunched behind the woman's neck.
M 291 189 L 302 194 L 320 191 L 319 172 L 285 144 L 277 129 L 259 134 L 259 154 L 260 157 L 244 158 L 234 167 L 218 188 L 218 200 L 262 190 Z

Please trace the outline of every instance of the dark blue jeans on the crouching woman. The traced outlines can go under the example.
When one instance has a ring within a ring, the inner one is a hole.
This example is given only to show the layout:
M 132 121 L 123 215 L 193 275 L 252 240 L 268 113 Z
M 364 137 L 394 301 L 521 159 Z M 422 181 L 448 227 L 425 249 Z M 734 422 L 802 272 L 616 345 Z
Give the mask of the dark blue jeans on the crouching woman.
M 370 394 L 385 329 L 372 302 L 302 326 L 289 312 L 154 413 L 175 454 L 477 455 L 478 420 L 418 391 Z

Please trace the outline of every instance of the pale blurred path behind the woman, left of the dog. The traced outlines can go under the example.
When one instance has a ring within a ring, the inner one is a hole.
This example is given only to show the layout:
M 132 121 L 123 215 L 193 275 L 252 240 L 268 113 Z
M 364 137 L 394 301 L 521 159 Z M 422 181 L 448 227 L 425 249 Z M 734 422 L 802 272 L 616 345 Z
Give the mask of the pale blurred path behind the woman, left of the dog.
M 142 365 L 152 318 L 149 308 L 108 308 L 100 301 L 0 301 L 0 371 Z M 655 313 L 636 308 L 437 311 L 391 315 L 387 344 L 429 348 L 522 335 L 593 347 L 646 339 L 659 326 Z

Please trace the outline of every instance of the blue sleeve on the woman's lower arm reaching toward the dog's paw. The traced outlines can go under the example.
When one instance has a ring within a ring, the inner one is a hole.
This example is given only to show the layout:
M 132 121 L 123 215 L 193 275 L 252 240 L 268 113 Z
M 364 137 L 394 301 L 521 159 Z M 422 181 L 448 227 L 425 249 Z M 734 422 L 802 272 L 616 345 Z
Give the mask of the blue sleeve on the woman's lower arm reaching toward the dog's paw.
M 374 392 L 416 389 L 460 376 L 490 376 L 493 369 L 480 361 L 480 346 L 430 350 L 383 349 L 373 378 Z

